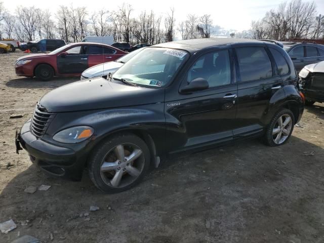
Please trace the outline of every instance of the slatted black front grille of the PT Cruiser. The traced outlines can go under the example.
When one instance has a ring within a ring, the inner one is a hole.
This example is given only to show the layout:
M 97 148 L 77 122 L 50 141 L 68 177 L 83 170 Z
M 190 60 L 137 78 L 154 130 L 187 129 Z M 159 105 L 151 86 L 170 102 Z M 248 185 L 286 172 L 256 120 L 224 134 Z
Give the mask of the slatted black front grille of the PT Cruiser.
M 49 127 L 52 119 L 55 116 L 55 113 L 40 111 L 37 106 L 35 107 L 34 113 L 31 118 L 30 131 L 36 137 L 41 138 Z M 42 110 L 45 110 L 45 108 L 43 107 Z

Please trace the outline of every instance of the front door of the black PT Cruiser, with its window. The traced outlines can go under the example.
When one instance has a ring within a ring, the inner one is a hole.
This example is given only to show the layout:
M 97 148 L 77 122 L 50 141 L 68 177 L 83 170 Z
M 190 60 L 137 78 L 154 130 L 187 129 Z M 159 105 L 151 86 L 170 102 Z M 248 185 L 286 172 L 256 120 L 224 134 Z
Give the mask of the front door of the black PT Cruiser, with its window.
M 230 57 L 229 50 L 200 56 L 187 71 L 181 87 L 200 77 L 208 81 L 209 89 L 179 93 L 176 99 L 166 97 L 167 140 L 172 141 L 167 144 L 168 151 L 232 139 L 237 86 Z

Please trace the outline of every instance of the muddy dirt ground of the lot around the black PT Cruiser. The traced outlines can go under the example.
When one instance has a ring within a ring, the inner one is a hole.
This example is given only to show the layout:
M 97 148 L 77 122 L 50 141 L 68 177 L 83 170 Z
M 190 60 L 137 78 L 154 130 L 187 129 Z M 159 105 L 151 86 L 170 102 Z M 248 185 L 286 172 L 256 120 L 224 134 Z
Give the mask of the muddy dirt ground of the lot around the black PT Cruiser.
M 26 234 L 42 242 L 324 242 L 323 105 L 306 107 L 284 146 L 252 140 L 180 154 L 136 188 L 107 195 L 87 171 L 81 182 L 51 178 L 25 151 L 16 154 L 15 131 L 39 98 L 77 80 L 20 78 L 21 55 L 0 56 L 0 222 L 17 224 L 0 242 Z M 42 184 L 52 187 L 24 192 Z

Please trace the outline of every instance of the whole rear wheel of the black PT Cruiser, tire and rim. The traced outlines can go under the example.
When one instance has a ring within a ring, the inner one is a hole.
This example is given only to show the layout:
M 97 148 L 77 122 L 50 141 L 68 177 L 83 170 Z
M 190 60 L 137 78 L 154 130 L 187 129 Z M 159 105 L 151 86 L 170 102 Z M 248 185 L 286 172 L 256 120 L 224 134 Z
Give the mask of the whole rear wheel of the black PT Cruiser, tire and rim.
M 280 117 L 281 117 L 282 126 L 280 126 L 280 124 L 278 123 Z M 287 123 L 286 126 L 285 123 Z M 265 144 L 273 147 L 285 144 L 289 140 L 290 136 L 292 135 L 292 132 L 294 130 L 294 124 L 295 124 L 295 117 L 293 112 L 291 112 L 288 109 L 282 109 L 278 111 L 273 116 L 270 124 L 266 129 L 266 133 L 264 135 Z

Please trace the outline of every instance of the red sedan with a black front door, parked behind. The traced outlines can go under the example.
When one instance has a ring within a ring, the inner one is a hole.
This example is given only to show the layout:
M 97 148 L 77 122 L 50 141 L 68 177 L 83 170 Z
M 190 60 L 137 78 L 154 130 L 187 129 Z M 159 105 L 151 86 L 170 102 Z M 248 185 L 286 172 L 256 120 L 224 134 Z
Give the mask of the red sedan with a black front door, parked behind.
M 51 53 L 27 55 L 17 59 L 15 68 L 19 76 L 48 81 L 53 76 L 80 76 L 87 68 L 114 61 L 127 52 L 98 43 L 69 44 Z

